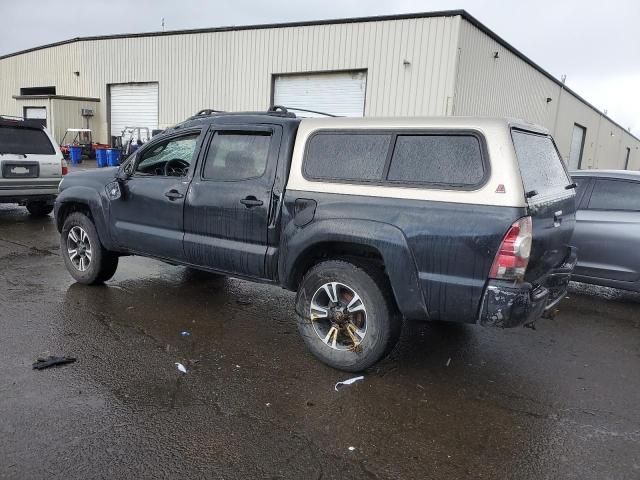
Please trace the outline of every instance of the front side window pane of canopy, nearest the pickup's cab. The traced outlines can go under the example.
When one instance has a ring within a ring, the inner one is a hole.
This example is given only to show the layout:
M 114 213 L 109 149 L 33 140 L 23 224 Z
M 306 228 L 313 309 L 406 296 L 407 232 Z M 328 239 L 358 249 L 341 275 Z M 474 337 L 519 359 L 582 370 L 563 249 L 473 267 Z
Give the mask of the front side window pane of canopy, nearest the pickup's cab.
M 390 134 L 320 133 L 309 140 L 305 176 L 327 180 L 380 181 Z

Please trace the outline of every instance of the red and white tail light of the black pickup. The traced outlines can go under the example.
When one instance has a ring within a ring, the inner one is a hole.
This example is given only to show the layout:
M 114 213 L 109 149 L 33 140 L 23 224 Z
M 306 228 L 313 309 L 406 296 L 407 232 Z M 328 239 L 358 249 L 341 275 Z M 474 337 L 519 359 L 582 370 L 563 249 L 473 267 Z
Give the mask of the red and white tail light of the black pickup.
M 529 264 L 532 240 L 531 217 L 522 217 L 511 225 L 504 236 L 489 277 L 497 280 L 522 280 Z

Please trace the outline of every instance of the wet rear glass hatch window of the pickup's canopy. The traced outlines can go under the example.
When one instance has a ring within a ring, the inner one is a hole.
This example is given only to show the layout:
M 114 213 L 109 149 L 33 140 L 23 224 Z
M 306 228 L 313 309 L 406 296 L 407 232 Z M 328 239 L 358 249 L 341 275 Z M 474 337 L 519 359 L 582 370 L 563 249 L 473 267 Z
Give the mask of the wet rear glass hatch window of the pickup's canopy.
M 534 200 L 565 193 L 571 180 L 551 137 L 522 130 L 512 137 L 525 193 Z

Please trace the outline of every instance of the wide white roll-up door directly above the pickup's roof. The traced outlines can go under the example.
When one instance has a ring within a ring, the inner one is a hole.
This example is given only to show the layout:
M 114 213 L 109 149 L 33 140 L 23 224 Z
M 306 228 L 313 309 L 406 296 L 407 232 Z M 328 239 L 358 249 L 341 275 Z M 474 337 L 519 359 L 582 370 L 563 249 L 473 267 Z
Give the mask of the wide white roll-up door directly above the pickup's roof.
M 341 117 L 362 117 L 367 73 L 277 75 L 273 88 L 274 105 L 316 110 Z M 319 116 L 302 112 L 299 115 Z

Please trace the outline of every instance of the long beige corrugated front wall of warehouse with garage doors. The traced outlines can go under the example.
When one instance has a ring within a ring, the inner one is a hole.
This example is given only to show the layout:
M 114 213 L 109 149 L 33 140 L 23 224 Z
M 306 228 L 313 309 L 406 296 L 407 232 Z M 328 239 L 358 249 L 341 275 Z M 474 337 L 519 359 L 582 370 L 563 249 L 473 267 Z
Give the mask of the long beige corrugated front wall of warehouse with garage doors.
M 444 115 L 460 22 L 431 17 L 60 45 L 0 60 L 0 112 L 14 111 L 11 97 L 21 87 L 55 85 L 58 95 L 102 100 L 96 120 L 104 136 L 109 84 L 158 82 L 162 128 L 202 108 L 266 109 L 273 74 L 366 69 L 365 115 Z

